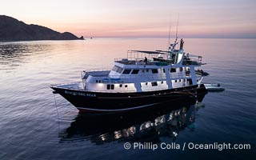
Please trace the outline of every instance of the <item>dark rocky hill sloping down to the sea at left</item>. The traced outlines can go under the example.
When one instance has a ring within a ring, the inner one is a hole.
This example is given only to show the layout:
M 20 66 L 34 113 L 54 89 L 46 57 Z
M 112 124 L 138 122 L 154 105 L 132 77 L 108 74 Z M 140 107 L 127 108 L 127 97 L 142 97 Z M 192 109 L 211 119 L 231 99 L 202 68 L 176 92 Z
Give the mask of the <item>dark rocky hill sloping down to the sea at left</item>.
M 59 33 L 45 26 L 27 25 L 6 15 L 0 15 L 0 41 L 75 40 L 70 32 Z

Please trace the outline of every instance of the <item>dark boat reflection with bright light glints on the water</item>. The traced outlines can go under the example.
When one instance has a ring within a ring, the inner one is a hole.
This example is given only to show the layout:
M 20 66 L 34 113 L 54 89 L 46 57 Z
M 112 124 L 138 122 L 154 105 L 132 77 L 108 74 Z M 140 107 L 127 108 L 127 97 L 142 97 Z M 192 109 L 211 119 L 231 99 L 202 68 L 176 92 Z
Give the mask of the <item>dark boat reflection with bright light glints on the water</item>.
M 115 114 L 78 114 L 66 130 L 59 133 L 60 142 L 90 140 L 96 145 L 106 142 L 161 142 L 175 140 L 195 121 L 195 112 L 203 106 L 205 94 L 171 104 Z M 168 106 L 167 106 L 168 105 Z

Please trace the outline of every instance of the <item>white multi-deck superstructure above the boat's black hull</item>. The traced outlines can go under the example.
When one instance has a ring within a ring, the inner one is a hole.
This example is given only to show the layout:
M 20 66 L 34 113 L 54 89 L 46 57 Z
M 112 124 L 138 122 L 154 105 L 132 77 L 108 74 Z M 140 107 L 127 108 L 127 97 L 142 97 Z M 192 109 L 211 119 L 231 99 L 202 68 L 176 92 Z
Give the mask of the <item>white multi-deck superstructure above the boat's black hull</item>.
M 177 39 L 168 51 L 129 50 L 127 58 L 114 60 L 112 70 L 85 70 L 84 90 L 130 93 L 197 85 L 195 67 L 202 65 L 202 56 L 187 54 L 183 43 L 181 39 L 179 50 L 175 50 Z

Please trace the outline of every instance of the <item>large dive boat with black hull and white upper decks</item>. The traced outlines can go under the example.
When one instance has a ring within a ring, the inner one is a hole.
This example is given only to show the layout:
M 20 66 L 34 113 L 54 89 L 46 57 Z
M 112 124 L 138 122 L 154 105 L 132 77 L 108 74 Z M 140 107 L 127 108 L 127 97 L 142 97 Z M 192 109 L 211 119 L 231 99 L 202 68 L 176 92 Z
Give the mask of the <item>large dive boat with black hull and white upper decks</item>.
M 172 103 L 205 94 L 202 76 L 195 72 L 202 56 L 183 50 L 177 38 L 168 50 L 128 50 L 127 58 L 114 59 L 112 70 L 84 70 L 82 81 L 51 85 L 80 111 L 117 112 Z

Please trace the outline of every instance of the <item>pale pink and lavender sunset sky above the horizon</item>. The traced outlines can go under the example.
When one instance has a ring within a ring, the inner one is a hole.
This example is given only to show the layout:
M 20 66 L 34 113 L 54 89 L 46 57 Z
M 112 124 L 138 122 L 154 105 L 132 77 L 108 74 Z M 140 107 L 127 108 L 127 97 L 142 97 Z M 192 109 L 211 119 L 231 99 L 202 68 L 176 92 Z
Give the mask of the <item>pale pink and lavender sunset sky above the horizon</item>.
M 86 37 L 256 38 L 255 0 L 1 0 L 0 14 Z

